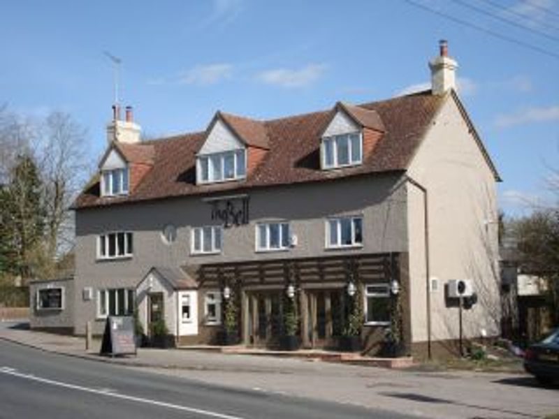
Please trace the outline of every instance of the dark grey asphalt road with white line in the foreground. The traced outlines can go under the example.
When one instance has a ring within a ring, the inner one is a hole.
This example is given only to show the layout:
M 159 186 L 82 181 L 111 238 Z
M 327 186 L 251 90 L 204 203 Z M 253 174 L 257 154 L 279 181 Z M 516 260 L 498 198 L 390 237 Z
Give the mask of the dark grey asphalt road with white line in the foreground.
M 0 418 L 410 418 L 140 372 L 0 340 Z

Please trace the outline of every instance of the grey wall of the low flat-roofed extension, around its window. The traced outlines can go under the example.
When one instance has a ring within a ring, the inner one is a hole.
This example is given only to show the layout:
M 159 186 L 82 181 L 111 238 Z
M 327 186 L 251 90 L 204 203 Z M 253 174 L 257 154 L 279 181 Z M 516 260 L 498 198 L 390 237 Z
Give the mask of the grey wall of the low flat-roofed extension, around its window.
M 64 309 L 37 309 L 39 288 L 64 288 Z M 31 282 L 29 284 L 29 326 L 31 329 L 71 329 L 74 321 L 74 281 L 57 279 L 53 281 Z

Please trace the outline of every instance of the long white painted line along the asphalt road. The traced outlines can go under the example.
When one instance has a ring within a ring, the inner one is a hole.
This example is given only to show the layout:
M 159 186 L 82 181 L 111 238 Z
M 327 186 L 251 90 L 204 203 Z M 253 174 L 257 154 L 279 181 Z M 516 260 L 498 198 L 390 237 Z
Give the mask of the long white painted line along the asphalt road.
M 31 375 L 31 374 L 22 374 L 21 372 L 17 372 L 17 371 L 15 371 L 15 369 L 10 368 L 10 367 L 0 368 L 0 374 L 8 374 L 8 375 L 11 375 L 11 376 L 25 378 L 25 379 L 31 380 L 31 381 L 38 381 L 39 383 L 57 385 L 59 387 L 71 388 L 72 390 L 90 392 L 90 393 L 93 393 L 93 394 L 96 394 L 96 395 L 102 395 L 102 396 L 105 396 L 105 397 L 113 397 L 115 399 L 124 399 L 124 400 L 129 400 L 131 402 L 152 404 L 154 406 L 166 407 L 168 409 L 187 411 L 187 412 L 190 412 L 190 413 L 198 413 L 198 415 L 210 416 L 212 418 L 243 419 L 243 418 L 240 418 L 240 416 L 231 416 L 231 415 L 226 415 L 224 413 L 217 413 L 217 412 L 207 411 L 207 410 L 204 410 L 204 409 L 196 409 L 195 407 L 181 406 L 180 404 L 159 402 L 158 400 L 144 399 L 142 397 L 135 397 L 135 396 L 128 396 L 128 395 L 121 395 L 121 394 L 118 394 L 118 393 L 115 393 L 115 392 L 107 392 L 106 390 L 108 390 L 108 389 L 99 390 L 99 389 L 96 389 L 96 388 L 83 387 L 82 385 L 63 383 L 61 381 L 50 380 L 48 378 L 41 378 L 41 377 L 34 376 L 34 375 Z

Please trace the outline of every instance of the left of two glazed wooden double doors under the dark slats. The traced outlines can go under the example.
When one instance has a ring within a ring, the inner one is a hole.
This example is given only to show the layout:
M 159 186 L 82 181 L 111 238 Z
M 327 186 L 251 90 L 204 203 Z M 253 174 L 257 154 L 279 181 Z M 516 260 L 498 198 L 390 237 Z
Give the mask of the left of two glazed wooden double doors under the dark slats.
M 266 291 L 247 293 L 249 304 L 249 343 L 275 347 L 283 335 L 283 293 Z

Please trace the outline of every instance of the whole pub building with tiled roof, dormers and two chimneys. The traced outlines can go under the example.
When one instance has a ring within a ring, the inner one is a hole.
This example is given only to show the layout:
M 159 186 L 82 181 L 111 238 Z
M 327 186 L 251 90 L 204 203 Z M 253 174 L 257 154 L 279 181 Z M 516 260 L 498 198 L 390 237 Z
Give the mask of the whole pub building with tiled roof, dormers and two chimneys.
M 133 314 L 181 346 L 375 355 L 389 341 L 423 357 L 453 351 L 447 288 L 465 279 L 479 295 L 465 337 L 497 336 L 500 179 L 456 67 L 442 42 L 426 91 L 279 119 L 217 112 L 159 140 L 115 105 L 74 204 L 73 332 Z

